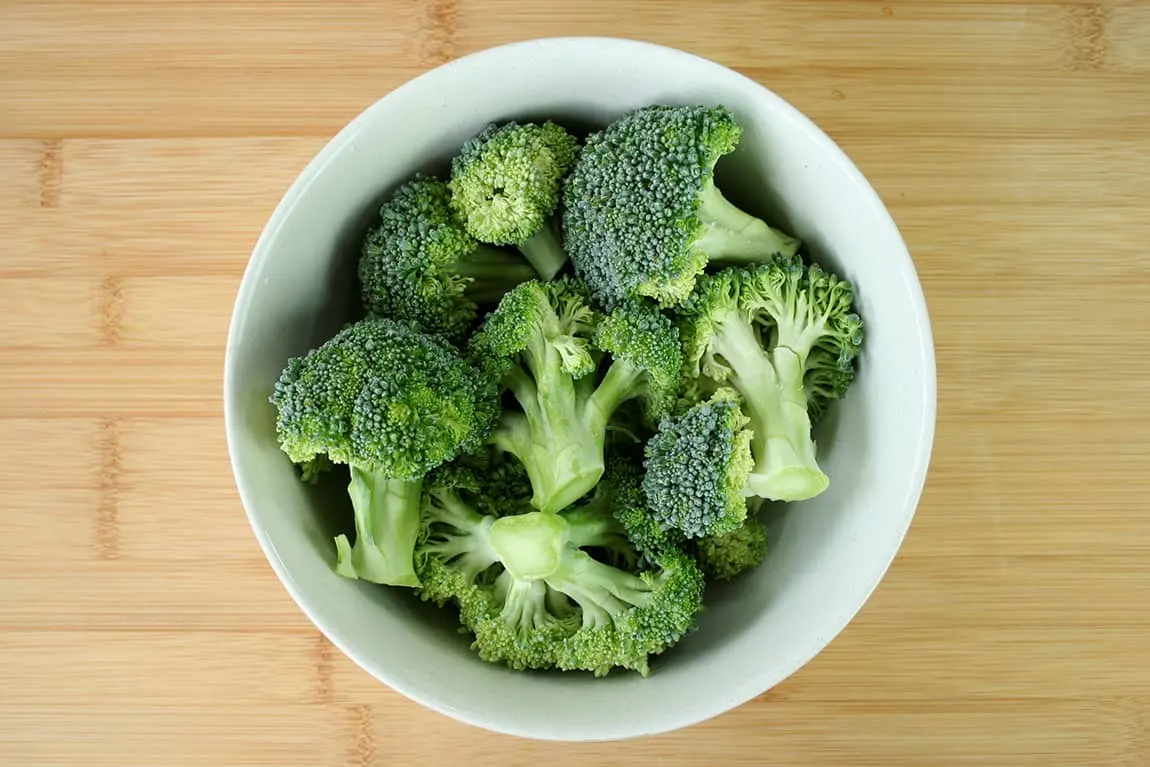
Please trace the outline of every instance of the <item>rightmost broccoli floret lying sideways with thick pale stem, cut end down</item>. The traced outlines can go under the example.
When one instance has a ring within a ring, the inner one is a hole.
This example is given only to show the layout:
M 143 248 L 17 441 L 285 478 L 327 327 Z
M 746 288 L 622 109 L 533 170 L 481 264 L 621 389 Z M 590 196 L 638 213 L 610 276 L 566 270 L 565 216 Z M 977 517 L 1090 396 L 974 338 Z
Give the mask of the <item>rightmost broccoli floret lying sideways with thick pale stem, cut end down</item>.
M 807 408 L 842 396 L 841 376 L 861 346 L 850 283 L 798 256 L 731 267 L 699 278 L 680 322 L 688 377 L 733 386 L 743 400 L 753 435 L 749 494 L 805 500 L 826 490 Z

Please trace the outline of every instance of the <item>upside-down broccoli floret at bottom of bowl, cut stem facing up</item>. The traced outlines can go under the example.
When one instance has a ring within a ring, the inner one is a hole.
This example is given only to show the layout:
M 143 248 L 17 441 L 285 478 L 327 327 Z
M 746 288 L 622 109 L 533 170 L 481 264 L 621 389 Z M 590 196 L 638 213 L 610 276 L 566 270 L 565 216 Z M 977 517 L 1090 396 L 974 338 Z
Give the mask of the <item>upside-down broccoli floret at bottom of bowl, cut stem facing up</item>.
M 620 545 L 610 500 L 494 517 L 469 494 L 429 489 L 416 566 L 420 596 L 459 607 L 483 660 L 645 676 L 650 657 L 695 628 L 703 573 L 685 553 L 665 552 L 637 573 L 589 553 Z

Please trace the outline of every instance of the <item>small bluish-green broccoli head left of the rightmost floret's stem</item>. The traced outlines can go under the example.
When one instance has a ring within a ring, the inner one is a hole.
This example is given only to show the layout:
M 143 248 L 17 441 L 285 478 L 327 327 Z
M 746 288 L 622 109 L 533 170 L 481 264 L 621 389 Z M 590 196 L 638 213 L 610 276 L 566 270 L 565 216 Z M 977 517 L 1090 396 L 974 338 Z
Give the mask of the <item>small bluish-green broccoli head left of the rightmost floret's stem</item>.
M 666 417 L 646 444 L 643 492 L 651 515 L 688 538 L 730 532 L 746 519 L 750 420 L 724 389 L 678 417 Z

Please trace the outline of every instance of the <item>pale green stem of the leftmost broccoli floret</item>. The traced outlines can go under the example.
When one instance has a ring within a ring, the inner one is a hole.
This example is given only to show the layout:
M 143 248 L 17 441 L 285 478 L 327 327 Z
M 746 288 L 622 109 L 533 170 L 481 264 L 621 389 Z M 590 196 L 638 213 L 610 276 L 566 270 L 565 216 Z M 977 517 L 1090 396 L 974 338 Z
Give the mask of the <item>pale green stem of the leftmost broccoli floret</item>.
M 355 512 L 355 545 L 336 538 L 336 573 L 396 586 L 419 586 L 414 552 L 423 480 L 392 480 L 351 467 L 347 493 Z

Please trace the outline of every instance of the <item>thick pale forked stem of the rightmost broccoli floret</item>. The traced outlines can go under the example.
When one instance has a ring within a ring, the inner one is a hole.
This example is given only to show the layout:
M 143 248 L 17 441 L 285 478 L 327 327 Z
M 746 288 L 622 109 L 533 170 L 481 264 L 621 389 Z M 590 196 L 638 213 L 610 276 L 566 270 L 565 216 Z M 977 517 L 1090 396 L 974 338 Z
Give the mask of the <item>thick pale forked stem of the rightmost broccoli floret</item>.
M 830 483 L 819 468 L 803 390 L 803 363 L 785 346 L 769 354 L 750 325 L 737 317 L 722 324 L 715 353 L 734 370 L 733 384 L 751 419 L 754 468 L 747 491 L 770 500 L 806 500 Z

